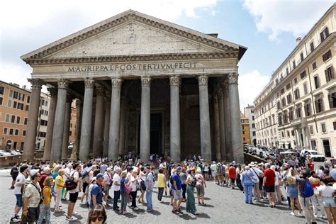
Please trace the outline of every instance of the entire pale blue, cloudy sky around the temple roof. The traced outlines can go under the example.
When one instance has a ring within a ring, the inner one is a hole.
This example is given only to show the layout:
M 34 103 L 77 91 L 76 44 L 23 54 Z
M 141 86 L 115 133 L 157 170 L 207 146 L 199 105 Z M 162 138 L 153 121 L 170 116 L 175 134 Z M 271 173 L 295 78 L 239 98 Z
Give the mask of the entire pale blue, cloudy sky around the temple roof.
M 253 103 L 330 0 L 1 1 L 0 79 L 28 84 L 20 56 L 77 30 L 134 9 L 248 47 L 239 63 L 240 108 Z M 17 7 L 20 5 L 21 7 Z M 9 10 L 15 9 L 15 10 Z

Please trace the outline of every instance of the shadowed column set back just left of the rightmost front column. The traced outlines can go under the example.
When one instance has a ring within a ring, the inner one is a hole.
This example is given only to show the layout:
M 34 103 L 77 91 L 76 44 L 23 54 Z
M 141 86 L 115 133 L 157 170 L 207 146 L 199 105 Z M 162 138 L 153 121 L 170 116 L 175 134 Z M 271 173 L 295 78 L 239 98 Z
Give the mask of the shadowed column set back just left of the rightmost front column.
M 223 96 L 224 96 L 224 123 L 225 123 L 225 152 L 226 159 L 228 161 L 233 161 L 233 151 L 231 144 L 231 121 L 230 121 L 230 97 L 229 97 L 229 86 L 228 79 L 224 79 L 224 82 L 221 84 Z

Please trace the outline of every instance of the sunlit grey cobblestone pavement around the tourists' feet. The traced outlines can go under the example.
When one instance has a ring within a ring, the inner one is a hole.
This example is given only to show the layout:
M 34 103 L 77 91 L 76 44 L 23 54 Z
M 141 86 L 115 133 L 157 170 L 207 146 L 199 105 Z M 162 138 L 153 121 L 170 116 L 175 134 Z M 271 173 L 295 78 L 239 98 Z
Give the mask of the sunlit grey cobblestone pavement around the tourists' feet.
M 9 189 L 11 177 L 9 170 L 0 171 L 0 223 L 10 223 L 15 205 L 15 196 L 13 190 Z M 153 194 L 153 211 L 147 213 L 144 205 L 138 205 L 138 211 L 132 211 L 128 208 L 128 215 L 115 213 L 112 208 L 107 208 L 107 223 L 306 223 L 302 217 L 293 217 L 286 202 L 277 208 L 268 208 L 268 204 L 254 203 L 254 205 L 245 204 L 244 194 L 237 189 L 232 190 L 228 187 L 220 187 L 208 181 L 206 188 L 206 206 L 198 206 L 199 215 L 183 213 L 177 215 L 172 213 L 172 207 L 169 206 L 170 199 L 164 196 L 163 203 L 157 201 L 157 189 Z M 112 195 L 111 195 L 112 196 Z M 196 199 L 197 201 L 197 199 Z M 110 202 L 112 204 L 112 202 Z M 182 210 L 185 203 L 182 203 Z M 53 207 L 53 203 L 52 203 Z M 67 203 L 62 202 L 63 211 L 67 211 Z M 53 211 L 53 208 L 52 208 Z M 72 223 L 86 223 L 88 208 L 76 203 L 75 215 L 78 220 Z M 68 223 L 65 219 L 65 212 L 53 213 L 52 223 Z M 325 220 L 318 219 L 318 223 L 327 223 Z

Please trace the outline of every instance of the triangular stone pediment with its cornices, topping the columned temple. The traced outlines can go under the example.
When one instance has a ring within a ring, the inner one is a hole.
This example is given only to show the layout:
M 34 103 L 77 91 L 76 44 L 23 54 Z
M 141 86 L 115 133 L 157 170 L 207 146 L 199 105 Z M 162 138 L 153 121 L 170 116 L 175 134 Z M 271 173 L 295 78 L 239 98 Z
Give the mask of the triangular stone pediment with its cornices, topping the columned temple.
M 21 58 L 31 64 L 70 58 L 220 53 L 239 60 L 245 50 L 246 47 L 129 10 Z

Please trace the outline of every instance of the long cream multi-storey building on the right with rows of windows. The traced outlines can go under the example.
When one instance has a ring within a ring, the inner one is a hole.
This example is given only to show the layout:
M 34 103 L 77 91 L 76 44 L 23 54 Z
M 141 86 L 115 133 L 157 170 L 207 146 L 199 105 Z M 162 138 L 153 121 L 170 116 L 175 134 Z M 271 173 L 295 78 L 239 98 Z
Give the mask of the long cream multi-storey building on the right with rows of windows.
M 335 31 L 334 4 L 254 99 L 259 145 L 336 156 Z

